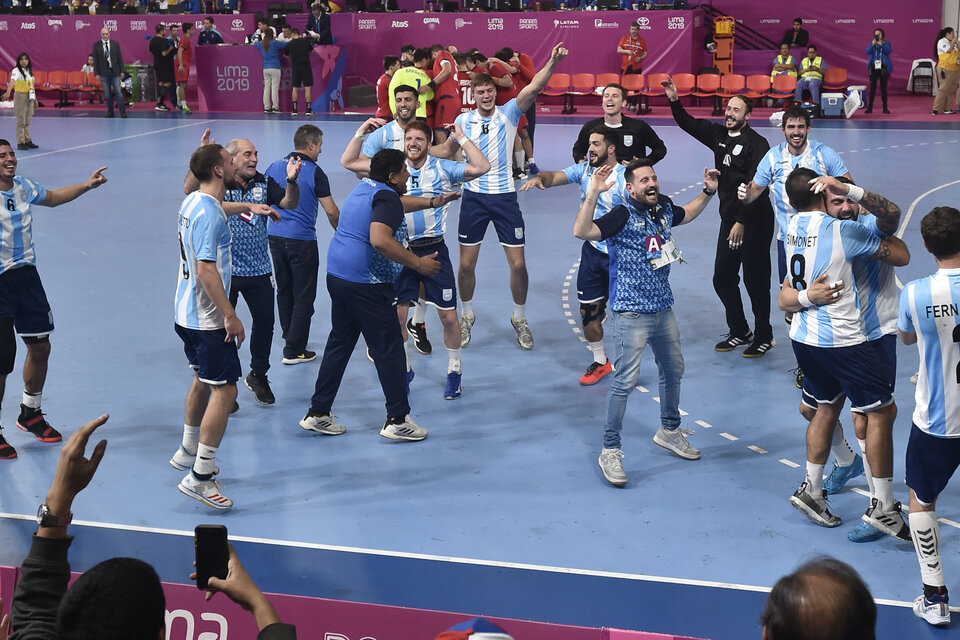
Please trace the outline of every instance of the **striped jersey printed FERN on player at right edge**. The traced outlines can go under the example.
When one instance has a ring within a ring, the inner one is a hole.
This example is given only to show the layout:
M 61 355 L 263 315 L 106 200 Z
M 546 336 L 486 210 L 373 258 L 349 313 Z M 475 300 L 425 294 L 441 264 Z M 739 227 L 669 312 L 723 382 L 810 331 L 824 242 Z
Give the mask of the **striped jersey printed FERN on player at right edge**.
M 932 436 L 960 438 L 960 269 L 908 282 L 900 330 L 917 334 L 920 375 L 913 423 Z

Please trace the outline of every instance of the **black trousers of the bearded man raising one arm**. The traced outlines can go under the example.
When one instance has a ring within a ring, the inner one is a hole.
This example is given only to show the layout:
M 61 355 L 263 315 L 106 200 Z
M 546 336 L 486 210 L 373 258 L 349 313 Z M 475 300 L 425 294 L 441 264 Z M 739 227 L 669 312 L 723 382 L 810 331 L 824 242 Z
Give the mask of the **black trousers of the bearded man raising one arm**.
M 713 289 L 717 292 L 726 313 L 727 327 L 734 336 L 750 331 L 740 298 L 740 268 L 743 284 L 750 296 L 750 306 L 756 322 L 754 338 L 766 342 L 773 338 L 770 326 L 770 241 L 773 239 L 773 216 L 745 225 L 743 244 L 731 249 L 727 237 L 733 220 L 720 222 L 717 236 L 717 257 L 713 263 Z

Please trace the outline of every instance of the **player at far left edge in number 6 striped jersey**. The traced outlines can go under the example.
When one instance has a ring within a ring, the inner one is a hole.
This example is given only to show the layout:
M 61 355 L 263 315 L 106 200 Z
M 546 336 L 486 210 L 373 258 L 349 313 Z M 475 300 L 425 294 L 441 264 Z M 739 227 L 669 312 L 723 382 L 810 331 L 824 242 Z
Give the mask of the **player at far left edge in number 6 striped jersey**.
M 43 383 L 47 379 L 50 358 L 50 334 L 53 312 L 37 273 L 33 245 L 32 205 L 58 207 L 76 200 L 107 181 L 106 167 L 93 172 L 86 182 L 47 190 L 29 178 L 17 175 L 17 155 L 13 146 L 0 139 L 0 400 L 7 376 L 13 371 L 17 355 L 16 334 L 27 345 L 23 363 L 23 403 L 17 427 L 29 431 L 41 442 L 59 442 L 60 434 L 51 427 L 40 410 Z M 0 431 L 0 460 L 16 458 Z

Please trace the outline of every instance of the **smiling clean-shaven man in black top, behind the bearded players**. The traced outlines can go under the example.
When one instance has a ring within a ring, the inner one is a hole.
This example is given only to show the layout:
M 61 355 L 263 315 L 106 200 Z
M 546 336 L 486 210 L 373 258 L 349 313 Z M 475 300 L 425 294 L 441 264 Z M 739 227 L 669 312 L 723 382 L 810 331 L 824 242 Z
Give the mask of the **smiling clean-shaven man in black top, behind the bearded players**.
M 649 124 L 640 118 L 628 118 L 623 115 L 627 103 L 627 90 L 622 85 L 612 83 L 603 88 L 600 106 L 603 117 L 587 121 L 580 128 L 577 141 L 573 144 L 573 161 L 583 162 L 590 146 L 590 134 L 597 127 L 605 126 L 617 135 L 617 162 L 627 164 L 631 160 L 646 158 L 650 164 L 657 164 L 667 155 L 667 146 Z

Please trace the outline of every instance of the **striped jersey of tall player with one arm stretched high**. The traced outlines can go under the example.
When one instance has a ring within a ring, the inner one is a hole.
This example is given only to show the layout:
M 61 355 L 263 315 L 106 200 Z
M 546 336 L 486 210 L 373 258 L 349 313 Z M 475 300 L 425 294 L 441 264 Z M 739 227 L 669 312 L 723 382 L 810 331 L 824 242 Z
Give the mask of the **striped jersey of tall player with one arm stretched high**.
M 490 171 L 476 180 L 463 185 L 474 193 L 512 193 L 513 141 L 517 137 L 517 123 L 523 112 L 514 98 L 502 107 L 494 107 L 493 115 L 484 118 L 474 109 L 457 116 L 457 124 L 464 135 L 473 140 L 477 148 L 490 161 Z

